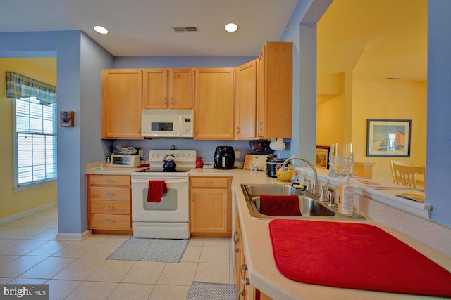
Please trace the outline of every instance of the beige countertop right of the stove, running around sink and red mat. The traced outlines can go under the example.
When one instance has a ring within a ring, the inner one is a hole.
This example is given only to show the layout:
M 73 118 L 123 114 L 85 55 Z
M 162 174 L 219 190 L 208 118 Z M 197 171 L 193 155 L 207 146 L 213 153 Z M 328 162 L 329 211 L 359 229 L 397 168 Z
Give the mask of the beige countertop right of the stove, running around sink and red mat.
M 245 247 L 249 280 L 251 285 L 277 299 L 425 299 L 424 296 L 372 292 L 358 289 L 340 289 L 321 285 L 309 285 L 285 278 L 279 273 L 273 259 L 268 223 L 271 220 L 252 219 L 247 209 L 245 196 L 242 193 L 242 183 L 286 184 L 269 178 L 264 171 L 249 171 L 247 169 L 218 170 L 194 169 L 190 176 L 233 176 L 233 190 L 236 196 L 235 206 L 242 226 L 243 244 Z M 356 221 L 352 221 L 356 222 Z M 429 259 L 435 261 L 451 272 L 451 258 L 437 252 L 424 244 L 401 233 L 383 226 L 383 224 L 366 219 L 357 221 L 378 226 L 402 242 L 416 249 Z M 333 255 L 333 249 L 330 249 Z M 339 259 L 339 258 L 337 258 Z M 421 283 L 420 283 L 421 284 Z

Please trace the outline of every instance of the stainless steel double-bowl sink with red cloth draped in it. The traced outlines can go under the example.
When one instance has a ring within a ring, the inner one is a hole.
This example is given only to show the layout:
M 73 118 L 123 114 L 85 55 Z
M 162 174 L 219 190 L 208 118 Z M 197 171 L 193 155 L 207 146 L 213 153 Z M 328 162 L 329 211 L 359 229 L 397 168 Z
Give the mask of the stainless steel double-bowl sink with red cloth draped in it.
M 329 207 L 327 203 L 322 203 L 319 198 L 309 193 L 293 188 L 291 185 L 278 184 L 242 184 L 242 191 L 245 194 L 247 208 L 253 219 L 365 219 L 364 216 L 354 211 L 352 216 L 342 216 L 338 214 L 336 207 Z M 299 197 L 299 209 L 302 216 L 278 216 L 276 212 L 272 216 L 261 214 L 261 195 L 297 195 Z

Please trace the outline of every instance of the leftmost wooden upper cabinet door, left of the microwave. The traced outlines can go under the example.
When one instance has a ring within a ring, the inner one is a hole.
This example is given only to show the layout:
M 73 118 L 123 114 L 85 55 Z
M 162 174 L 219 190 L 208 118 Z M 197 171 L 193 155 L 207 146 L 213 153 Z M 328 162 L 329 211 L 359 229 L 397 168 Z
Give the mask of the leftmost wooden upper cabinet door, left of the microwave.
M 142 139 L 142 71 L 101 71 L 101 138 Z

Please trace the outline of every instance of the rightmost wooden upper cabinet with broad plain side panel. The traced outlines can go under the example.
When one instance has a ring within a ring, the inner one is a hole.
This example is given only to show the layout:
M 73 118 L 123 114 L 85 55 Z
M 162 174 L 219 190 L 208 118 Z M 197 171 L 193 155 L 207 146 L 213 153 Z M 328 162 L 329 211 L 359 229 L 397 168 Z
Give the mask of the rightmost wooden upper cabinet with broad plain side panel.
M 292 42 L 266 42 L 257 60 L 259 138 L 292 137 Z

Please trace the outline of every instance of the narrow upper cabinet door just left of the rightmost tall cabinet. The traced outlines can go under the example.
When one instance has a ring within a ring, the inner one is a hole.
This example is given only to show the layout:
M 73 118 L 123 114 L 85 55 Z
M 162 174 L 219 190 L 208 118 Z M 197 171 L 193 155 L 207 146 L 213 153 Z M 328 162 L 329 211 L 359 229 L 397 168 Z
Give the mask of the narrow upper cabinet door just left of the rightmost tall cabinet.
M 240 65 L 236 70 L 235 134 L 236 139 L 256 138 L 257 124 L 257 60 Z

